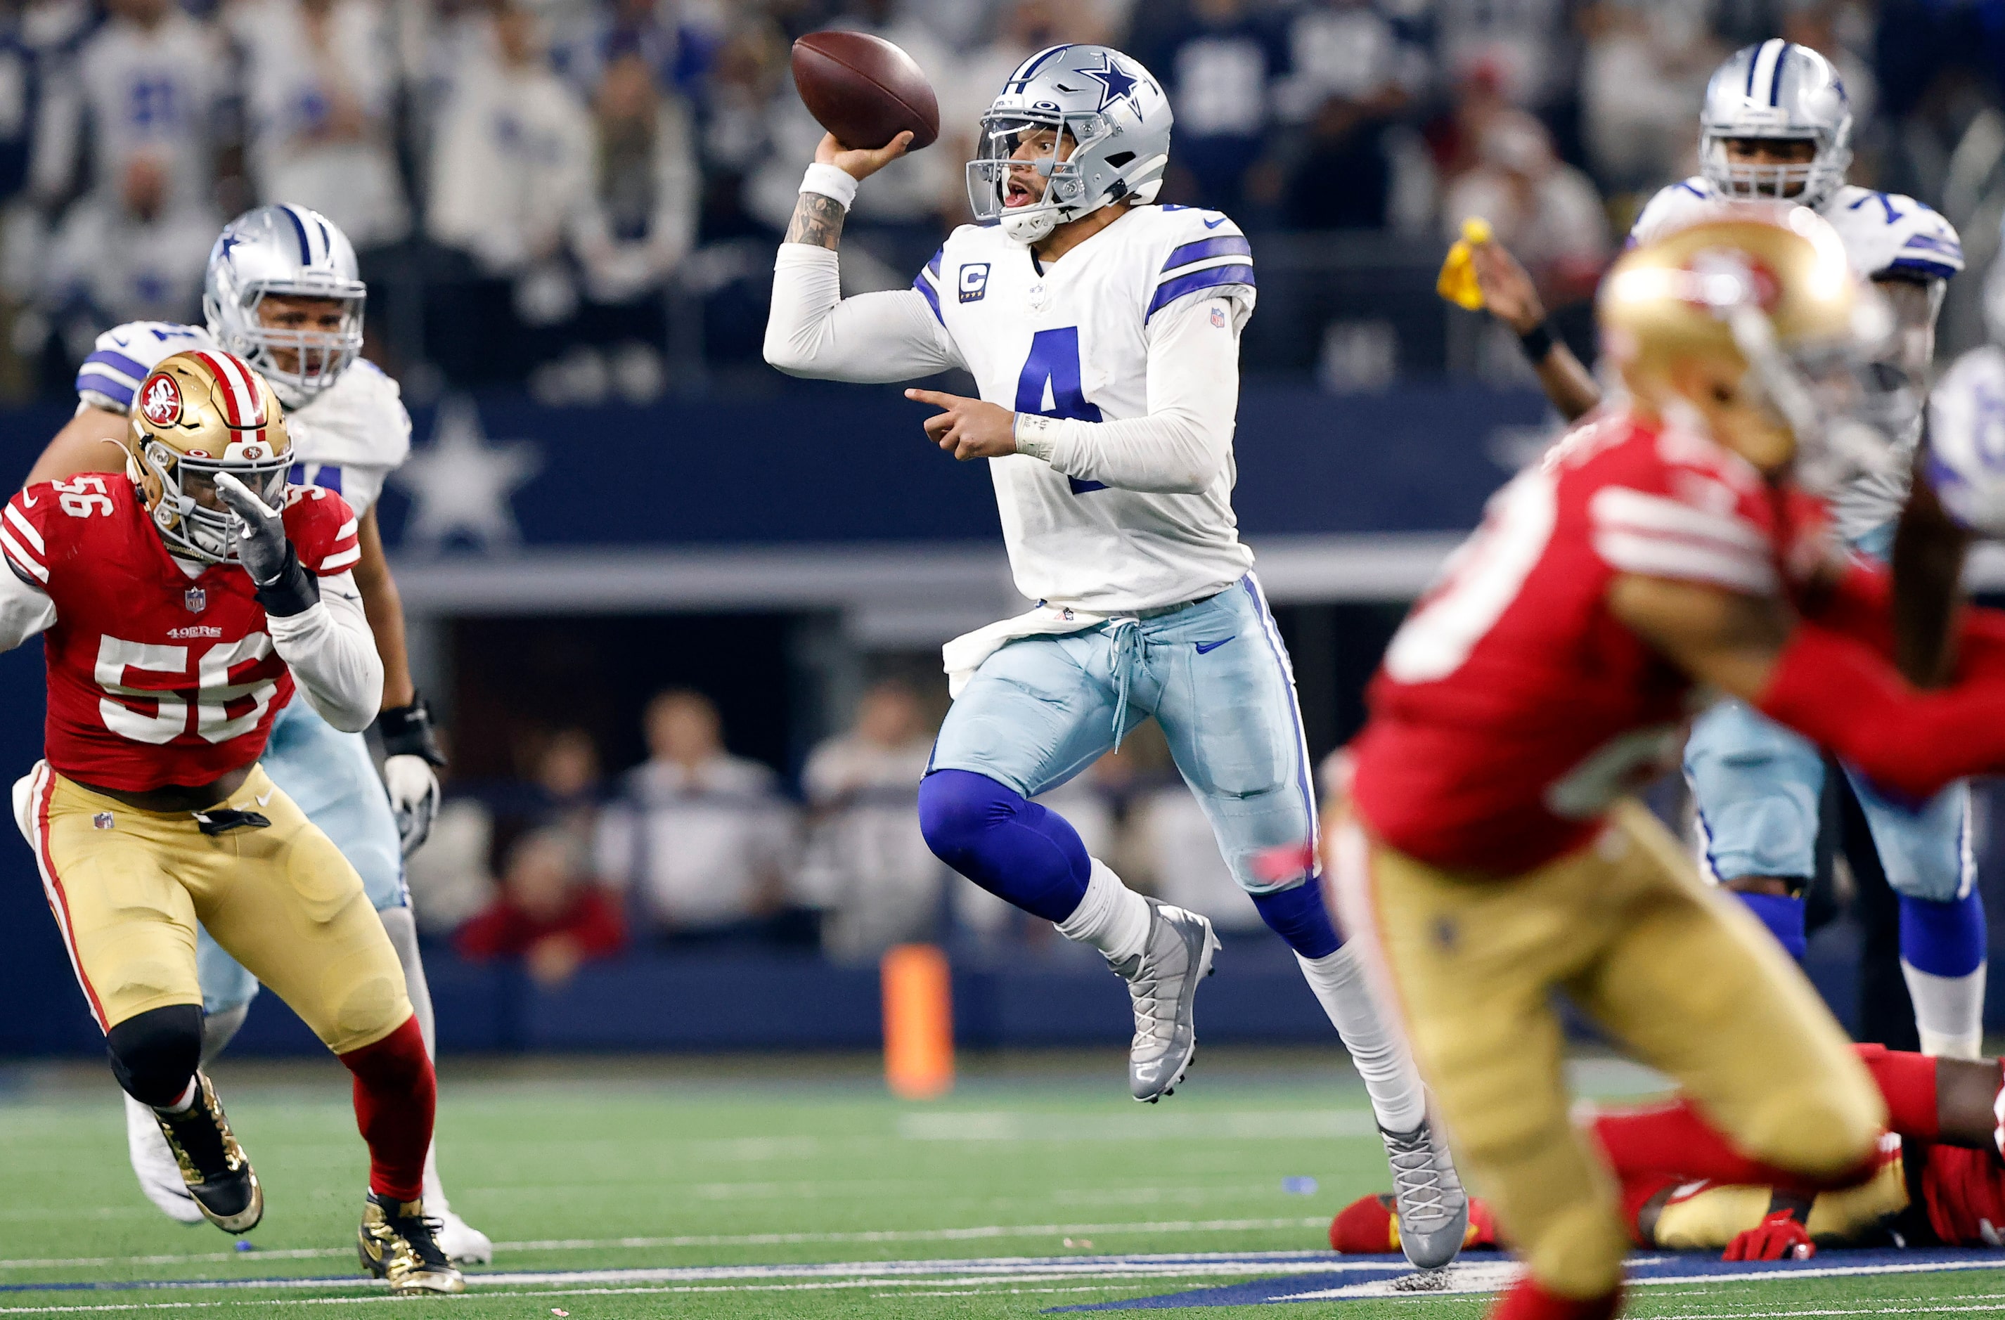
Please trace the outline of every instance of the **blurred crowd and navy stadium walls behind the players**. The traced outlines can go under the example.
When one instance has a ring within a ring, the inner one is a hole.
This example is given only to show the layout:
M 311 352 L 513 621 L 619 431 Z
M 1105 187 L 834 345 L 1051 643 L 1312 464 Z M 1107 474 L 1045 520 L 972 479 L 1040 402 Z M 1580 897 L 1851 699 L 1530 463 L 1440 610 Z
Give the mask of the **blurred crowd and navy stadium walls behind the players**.
M 1111 40 L 1165 80 L 1165 201 L 1231 211 L 1259 263 L 1237 506 L 1317 756 L 1355 730 L 1404 604 L 1554 431 L 1512 337 L 1434 295 L 1462 215 L 1496 223 L 1588 353 L 1600 269 L 1650 191 L 1694 167 L 1706 72 L 1786 34 L 1845 74 L 1853 179 L 1963 231 L 1943 359 L 1981 337 L 2005 215 L 1995 0 L 0 4 L 16 475 L 74 405 L 98 331 L 198 319 L 203 257 L 235 211 L 315 205 L 363 249 L 367 351 L 415 421 L 383 530 L 453 752 L 413 867 L 445 1051 L 868 1047 L 874 959 L 904 939 L 948 949 L 964 1043 L 1127 1035 L 1095 957 L 914 857 L 938 644 L 1023 608 L 986 473 L 922 443 L 924 409 L 894 389 L 758 359 L 816 134 L 786 44 L 822 26 L 906 46 L 948 120 L 864 189 L 852 291 L 904 285 L 960 221 L 968 126 L 1023 54 Z M 2005 588 L 2005 560 L 1977 572 Z M 670 702 L 656 754 L 708 788 L 642 806 L 628 772 L 662 690 L 710 702 L 740 760 L 704 748 L 702 702 Z M 30 646 L 0 658 L 0 768 L 38 744 Z M 1660 796 L 1674 812 L 1676 786 Z M 1161 748 L 1139 738 L 1055 804 L 1125 875 L 1227 927 L 1207 1039 L 1327 1039 Z M 652 849 L 624 843 L 636 816 Z M 666 863 L 664 841 L 734 897 L 698 911 L 708 877 Z M 1979 851 L 2005 913 L 1993 831 Z M 467 923 L 503 891 L 595 917 L 565 951 L 491 957 Z M 1853 1021 L 1867 927 L 1839 917 L 1813 945 Z M 26 1009 L 0 1019 L 0 1055 L 100 1047 L 26 847 L 0 845 L 0 993 Z M 237 1049 L 315 1043 L 263 997 Z

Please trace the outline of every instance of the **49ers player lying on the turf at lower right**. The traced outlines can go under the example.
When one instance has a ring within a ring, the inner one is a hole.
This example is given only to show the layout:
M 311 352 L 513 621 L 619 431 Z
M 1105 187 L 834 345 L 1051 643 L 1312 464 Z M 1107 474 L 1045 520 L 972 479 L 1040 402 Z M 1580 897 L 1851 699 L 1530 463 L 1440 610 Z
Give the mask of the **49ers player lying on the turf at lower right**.
M 1682 1103 L 1590 1109 L 1588 1135 L 1622 1186 L 1622 1222 L 1640 1248 L 1714 1250 L 1724 1260 L 1804 1260 L 1821 1248 L 2005 1246 L 2005 1105 L 1997 1059 L 1935 1059 L 1859 1045 L 1887 1101 L 1875 1176 L 1800 1196 L 1720 1184 L 1680 1168 Z M 1361 1196 L 1329 1224 L 1339 1252 L 1393 1252 L 1391 1196 Z M 1504 1246 L 1496 1216 L 1470 1202 L 1464 1250 Z

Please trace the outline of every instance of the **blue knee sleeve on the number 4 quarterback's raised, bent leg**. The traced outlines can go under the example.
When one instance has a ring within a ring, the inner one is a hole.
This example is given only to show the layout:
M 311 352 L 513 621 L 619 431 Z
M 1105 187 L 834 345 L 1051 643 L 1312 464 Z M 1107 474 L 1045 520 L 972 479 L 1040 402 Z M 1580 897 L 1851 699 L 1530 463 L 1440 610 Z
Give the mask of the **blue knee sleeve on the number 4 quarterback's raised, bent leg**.
M 1087 897 L 1093 861 L 1079 831 L 986 774 L 918 780 L 918 829 L 942 863 L 1045 921 L 1065 921 Z

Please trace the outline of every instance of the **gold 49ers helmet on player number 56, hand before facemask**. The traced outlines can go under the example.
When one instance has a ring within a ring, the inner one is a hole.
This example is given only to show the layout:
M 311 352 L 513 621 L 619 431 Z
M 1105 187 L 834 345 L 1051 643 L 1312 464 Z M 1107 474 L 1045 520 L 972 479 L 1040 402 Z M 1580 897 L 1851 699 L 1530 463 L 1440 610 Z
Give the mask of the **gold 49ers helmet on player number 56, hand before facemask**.
M 285 409 L 257 371 L 223 351 L 174 353 L 132 395 L 126 473 L 168 550 L 209 564 L 237 558 L 217 473 L 279 508 L 293 467 Z

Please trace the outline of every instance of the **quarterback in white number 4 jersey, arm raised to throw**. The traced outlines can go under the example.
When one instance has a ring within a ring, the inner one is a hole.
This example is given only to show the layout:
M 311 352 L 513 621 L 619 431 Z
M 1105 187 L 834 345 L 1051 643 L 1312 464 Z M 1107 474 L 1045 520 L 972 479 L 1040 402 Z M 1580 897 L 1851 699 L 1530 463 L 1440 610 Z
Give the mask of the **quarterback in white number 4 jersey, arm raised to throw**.
M 1155 718 L 1235 879 L 1295 949 L 1371 1093 L 1422 1266 L 1462 1248 L 1468 1198 L 1406 1045 L 1371 1005 L 1315 883 L 1315 794 L 1293 672 L 1231 508 L 1253 249 L 1215 211 L 1157 207 L 1171 110 L 1107 46 L 1025 60 L 968 162 L 978 225 L 912 289 L 844 299 L 858 183 L 902 154 L 822 140 L 774 269 L 766 359 L 842 381 L 964 367 L 980 397 L 912 389 L 926 433 L 988 459 L 1017 588 L 1039 602 L 946 646 L 954 706 L 918 788 L 928 847 L 1099 949 L 1129 983 L 1129 1087 L 1155 1101 L 1195 1051 L 1211 923 L 1143 899 L 1033 802 Z

